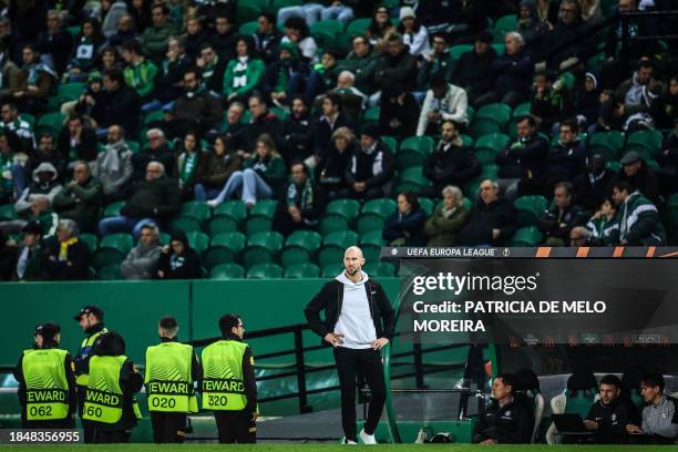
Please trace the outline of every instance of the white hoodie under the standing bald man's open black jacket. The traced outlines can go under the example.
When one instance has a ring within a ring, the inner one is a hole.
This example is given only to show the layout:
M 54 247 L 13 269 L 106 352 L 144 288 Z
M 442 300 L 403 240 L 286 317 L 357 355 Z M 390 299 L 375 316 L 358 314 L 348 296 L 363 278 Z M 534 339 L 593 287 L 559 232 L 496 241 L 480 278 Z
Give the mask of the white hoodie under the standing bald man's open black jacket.
M 343 300 L 341 312 L 335 326 L 335 332 L 343 335 L 341 347 L 350 349 L 369 349 L 377 339 L 374 321 L 370 312 L 370 304 L 367 298 L 364 284 L 368 275 L 362 271 L 362 279 L 358 282 L 351 281 L 345 273 L 337 276 L 339 282 L 343 284 Z

